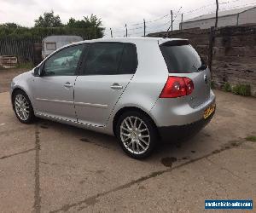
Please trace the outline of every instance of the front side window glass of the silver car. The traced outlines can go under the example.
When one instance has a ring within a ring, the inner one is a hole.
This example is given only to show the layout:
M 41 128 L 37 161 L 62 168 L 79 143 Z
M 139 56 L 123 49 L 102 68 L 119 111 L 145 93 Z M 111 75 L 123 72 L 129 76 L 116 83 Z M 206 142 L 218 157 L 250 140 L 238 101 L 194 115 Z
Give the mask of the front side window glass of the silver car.
M 79 64 L 84 45 L 79 44 L 57 52 L 44 64 L 44 76 L 72 76 Z

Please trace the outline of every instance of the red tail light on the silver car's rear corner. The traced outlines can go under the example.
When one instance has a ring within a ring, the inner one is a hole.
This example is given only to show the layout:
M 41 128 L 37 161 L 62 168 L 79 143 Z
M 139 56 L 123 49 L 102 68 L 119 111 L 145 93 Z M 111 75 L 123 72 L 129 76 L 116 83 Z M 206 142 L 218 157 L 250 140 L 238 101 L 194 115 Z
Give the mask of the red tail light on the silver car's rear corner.
M 166 85 L 160 94 L 160 98 L 177 98 L 192 93 L 194 83 L 185 77 L 168 77 Z

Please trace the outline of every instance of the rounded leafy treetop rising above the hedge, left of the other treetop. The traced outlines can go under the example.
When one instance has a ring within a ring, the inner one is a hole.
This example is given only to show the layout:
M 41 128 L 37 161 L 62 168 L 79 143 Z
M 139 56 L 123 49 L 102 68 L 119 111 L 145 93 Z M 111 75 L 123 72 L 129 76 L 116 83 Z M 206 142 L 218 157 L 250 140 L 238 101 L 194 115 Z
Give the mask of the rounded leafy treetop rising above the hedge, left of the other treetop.
M 35 27 L 57 27 L 62 26 L 61 18 L 57 14 L 54 14 L 54 11 L 45 12 L 39 16 L 38 20 L 35 20 Z

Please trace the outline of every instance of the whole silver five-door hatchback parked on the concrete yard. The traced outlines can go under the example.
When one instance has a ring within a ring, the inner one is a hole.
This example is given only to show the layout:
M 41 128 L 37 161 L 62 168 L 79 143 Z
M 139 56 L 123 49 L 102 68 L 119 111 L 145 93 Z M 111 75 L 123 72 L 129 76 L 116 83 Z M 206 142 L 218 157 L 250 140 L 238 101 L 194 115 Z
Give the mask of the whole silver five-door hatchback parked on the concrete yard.
M 208 67 L 188 40 L 174 38 L 67 45 L 15 77 L 10 94 L 20 122 L 40 117 L 116 135 L 132 158 L 195 134 L 215 112 Z

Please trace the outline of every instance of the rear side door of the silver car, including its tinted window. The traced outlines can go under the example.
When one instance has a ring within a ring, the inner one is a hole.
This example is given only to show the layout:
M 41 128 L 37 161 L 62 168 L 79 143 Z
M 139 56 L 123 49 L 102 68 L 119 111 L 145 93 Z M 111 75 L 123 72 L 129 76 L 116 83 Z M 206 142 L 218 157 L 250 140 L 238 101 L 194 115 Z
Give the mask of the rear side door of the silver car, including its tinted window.
M 137 69 L 137 50 L 131 43 L 91 43 L 83 73 L 75 83 L 78 121 L 104 126 L 113 107 Z

